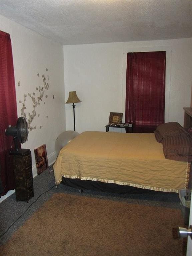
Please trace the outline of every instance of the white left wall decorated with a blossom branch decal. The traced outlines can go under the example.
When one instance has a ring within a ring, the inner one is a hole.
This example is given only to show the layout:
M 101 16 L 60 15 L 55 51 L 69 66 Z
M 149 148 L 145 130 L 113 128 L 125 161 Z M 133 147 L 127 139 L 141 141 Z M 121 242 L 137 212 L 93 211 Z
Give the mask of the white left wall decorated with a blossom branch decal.
M 45 90 L 42 102 L 36 108 L 37 115 L 31 123 L 36 129 L 29 132 L 28 141 L 22 144 L 22 148 L 28 148 L 32 152 L 35 176 L 37 170 L 34 149 L 46 144 L 48 162 L 51 164 L 56 159 L 55 140 L 66 129 L 63 46 L 3 16 L 0 16 L 0 30 L 9 33 L 11 37 L 18 117 L 21 116 L 22 109 L 19 101 L 23 102 L 24 94 L 27 95 L 25 112 L 28 119 L 28 113 L 33 111 L 33 103 L 28 93 L 39 96 L 36 87 L 44 85 L 42 75 L 45 75 L 46 82 L 49 83 L 49 89 Z

